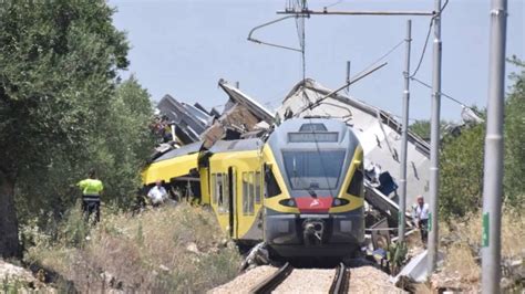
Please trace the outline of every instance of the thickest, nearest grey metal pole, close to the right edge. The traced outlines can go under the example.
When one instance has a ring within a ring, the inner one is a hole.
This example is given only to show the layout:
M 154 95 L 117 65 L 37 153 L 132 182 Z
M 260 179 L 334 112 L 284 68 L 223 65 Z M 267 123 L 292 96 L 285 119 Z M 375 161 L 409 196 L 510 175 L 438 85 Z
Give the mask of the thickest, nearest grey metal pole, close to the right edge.
M 482 291 L 500 293 L 507 1 L 492 0 L 483 179 Z

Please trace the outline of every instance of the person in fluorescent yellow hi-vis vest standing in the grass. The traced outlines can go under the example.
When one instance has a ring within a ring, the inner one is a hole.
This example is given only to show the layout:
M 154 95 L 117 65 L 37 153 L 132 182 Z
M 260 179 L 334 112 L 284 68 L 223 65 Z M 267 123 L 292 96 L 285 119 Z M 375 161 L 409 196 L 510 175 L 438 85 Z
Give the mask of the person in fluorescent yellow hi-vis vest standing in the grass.
M 78 186 L 82 189 L 82 211 L 86 220 L 91 218 L 91 214 L 95 213 L 95 223 L 101 218 L 101 192 L 104 189 L 102 181 L 96 178 L 94 169 L 90 169 L 89 178 L 79 181 Z

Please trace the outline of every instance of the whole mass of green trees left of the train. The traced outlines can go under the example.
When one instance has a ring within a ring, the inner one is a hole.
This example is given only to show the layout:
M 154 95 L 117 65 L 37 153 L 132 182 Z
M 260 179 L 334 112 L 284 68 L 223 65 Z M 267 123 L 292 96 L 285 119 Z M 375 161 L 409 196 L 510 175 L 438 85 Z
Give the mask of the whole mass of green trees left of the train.
M 103 200 L 137 185 L 152 107 L 134 77 L 117 83 L 128 44 L 112 13 L 103 0 L 0 6 L 1 255 L 19 251 L 14 195 L 22 217 L 59 217 L 91 167 Z

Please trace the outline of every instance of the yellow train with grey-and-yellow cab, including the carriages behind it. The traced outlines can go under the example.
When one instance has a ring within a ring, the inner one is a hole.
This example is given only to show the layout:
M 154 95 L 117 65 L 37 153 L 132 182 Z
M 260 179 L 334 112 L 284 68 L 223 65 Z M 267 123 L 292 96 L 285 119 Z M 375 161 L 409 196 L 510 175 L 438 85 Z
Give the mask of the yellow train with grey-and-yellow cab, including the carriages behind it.
M 144 185 L 186 187 L 241 243 L 280 256 L 348 256 L 364 239 L 363 153 L 326 118 L 285 120 L 258 138 L 183 146 L 155 159 Z

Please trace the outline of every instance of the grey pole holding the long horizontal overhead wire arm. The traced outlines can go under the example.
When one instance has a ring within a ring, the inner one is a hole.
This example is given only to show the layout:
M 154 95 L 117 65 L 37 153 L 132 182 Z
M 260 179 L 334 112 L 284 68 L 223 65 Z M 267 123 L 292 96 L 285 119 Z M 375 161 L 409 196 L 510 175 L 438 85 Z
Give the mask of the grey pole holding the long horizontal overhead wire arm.
M 432 72 L 432 117 L 430 133 L 430 216 L 429 216 L 429 275 L 435 269 L 439 228 L 437 228 L 437 198 L 440 195 L 440 108 L 441 108 L 441 0 L 435 0 L 434 25 L 434 49 L 433 49 L 433 72 Z

